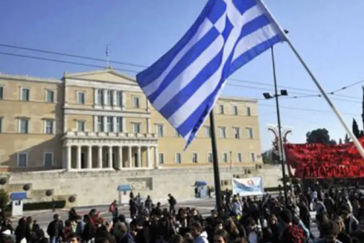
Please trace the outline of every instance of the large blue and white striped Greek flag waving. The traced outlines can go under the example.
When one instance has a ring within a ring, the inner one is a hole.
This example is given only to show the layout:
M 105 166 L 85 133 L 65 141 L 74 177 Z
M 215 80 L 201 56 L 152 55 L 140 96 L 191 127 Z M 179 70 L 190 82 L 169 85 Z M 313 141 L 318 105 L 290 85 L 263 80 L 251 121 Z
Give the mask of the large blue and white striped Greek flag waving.
M 136 80 L 187 147 L 226 79 L 283 40 L 260 0 L 209 0 L 182 39 Z

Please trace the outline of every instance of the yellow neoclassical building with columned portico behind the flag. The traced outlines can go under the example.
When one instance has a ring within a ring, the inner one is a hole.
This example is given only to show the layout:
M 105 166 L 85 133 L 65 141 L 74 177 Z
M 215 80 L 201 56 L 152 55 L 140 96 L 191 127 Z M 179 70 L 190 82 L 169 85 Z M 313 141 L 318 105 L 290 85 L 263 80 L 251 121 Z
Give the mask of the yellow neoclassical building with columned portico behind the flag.
M 221 166 L 262 163 L 256 100 L 215 108 Z M 1 171 L 130 170 L 212 166 L 209 121 L 185 141 L 134 78 L 108 68 L 62 79 L 0 74 Z

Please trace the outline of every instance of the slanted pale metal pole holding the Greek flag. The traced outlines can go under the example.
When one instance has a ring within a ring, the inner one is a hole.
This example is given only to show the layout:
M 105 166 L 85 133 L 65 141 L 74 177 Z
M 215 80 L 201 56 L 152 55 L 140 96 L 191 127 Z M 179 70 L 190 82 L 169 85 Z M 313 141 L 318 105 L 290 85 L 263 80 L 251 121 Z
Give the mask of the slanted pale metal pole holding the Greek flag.
M 265 8 L 265 12 L 269 15 L 269 17 L 272 18 L 272 20 L 277 24 L 277 27 L 280 29 L 281 31 L 281 35 L 285 37 L 285 41 L 288 43 L 289 47 L 291 48 L 291 50 L 295 53 L 296 57 L 298 58 L 299 62 L 302 64 L 302 66 L 306 69 L 307 73 L 310 75 L 311 79 L 314 81 L 314 84 L 317 86 L 318 90 L 320 90 L 322 96 L 325 98 L 326 102 L 330 105 L 332 111 L 335 113 L 336 117 L 339 119 L 341 125 L 344 127 L 345 131 L 347 132 L 347 134 L 349 135 L 350 139 L 353 141 L 353 143 L 355 144 L 355 146 L 357 147 L 360 155 L 363 157 L 364 159 L 364 149 L 362 147 L 362 145 L 360 144 L 359 140 L 354 136 L 353 132 L 349 129 L 349 127 L 347 126 L 346 122 L 344 121 L 343 117 L 340 115 L 339 111 L 336 109 L 336 107 L 334 106 L 334 104 L 332 104 L 329 96 L 326 94 L 325 90 L 323 89 L 322 85 L 320 84 L 320 82 L 318 82 L 318 80 L 316 79 L 316 77 L 314 76 L 314 74 L 311 72 L 311 70 L 307 67 L 306 63 L 303 61 L 302 57 L 298 54 L 296 48 L 294 47 L 294 45 L 292 44 L 292 42 L 288 39 L 288 36 L 284 33 L 284 30 L 281 28 L 281 26 L 278 24 L 277 20 L 275 19 L 275 17 L 272 15 L 272 13 L 270 13 L 270 11 L 268 10 L 268 8 L 265 6 L 265 3 L 262 0 L 257 0 L 261 3 L 261 5 Z

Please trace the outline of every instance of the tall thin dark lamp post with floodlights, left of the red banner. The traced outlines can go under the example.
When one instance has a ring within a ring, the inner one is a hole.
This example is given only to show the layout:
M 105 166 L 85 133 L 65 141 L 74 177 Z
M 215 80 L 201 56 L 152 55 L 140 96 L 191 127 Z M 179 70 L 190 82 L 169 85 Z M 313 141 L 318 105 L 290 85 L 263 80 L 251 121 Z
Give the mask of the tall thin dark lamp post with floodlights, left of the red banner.
M 283 141 L 282 141 L 282 129 L 281 129 L 281 114 L 280 107 L 278 101 L 278 87 L 277 87 L 277 75 L 276 75 L 276 63 L 274 61 L 274 50 L 273 46 L 270 48 L 272 53 L 272 68 L 273 68 L 273 81 L 274 81 L 274 97 L 276 99 L 276 110 L 277 110 L 277 123 L 278 123 L 278 137 L 279 137 L 279 151 L 280 151 L 280 162 L 282 165 L 282 180 L 283 180 L 283 191 L 284 191 L 284 208 L 287 207 L 288 203 L 288 194 L 287 194 L 287 178 L 286 178 L 286 169 L 285 169 L 285 161 L 283 158 Z

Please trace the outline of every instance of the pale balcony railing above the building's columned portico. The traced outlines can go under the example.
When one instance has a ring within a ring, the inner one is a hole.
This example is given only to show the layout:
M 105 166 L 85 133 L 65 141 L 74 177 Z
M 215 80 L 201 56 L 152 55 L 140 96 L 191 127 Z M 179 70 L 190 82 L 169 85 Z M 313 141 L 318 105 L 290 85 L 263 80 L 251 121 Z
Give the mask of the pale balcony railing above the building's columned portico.
M 157 139 L 155 133 L 119 133 L 119 132 L 77 132 L 67 131 L 64 139 Z

